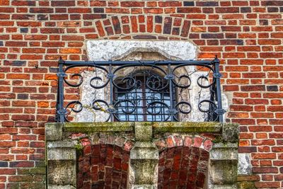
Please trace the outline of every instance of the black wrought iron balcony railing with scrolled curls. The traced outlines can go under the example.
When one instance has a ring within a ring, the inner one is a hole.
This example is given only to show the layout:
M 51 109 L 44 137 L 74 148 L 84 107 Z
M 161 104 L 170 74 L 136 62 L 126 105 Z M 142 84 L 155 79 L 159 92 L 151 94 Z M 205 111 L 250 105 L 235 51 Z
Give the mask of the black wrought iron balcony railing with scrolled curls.
M 87 84 L 83 81 L 86 72 L 91 76 Z M 202 121 L 223 122 L 217 58 L 94 62 L 60 59 L 57 76 L 57 122 L 70 121 L 83 109 L 98 113 L 99 120 L 104 116 L 105 121 L 185 121 L 204 115 Z M 79 95 L 83 85 L 94 90 L 89 104 L 83 104 L 80 96 L 74 99 L 74 93 Z M 99 96 L 98 90 L 103 91 Z M 192 96 L 193 90 L 197 90 L 197 96 Z

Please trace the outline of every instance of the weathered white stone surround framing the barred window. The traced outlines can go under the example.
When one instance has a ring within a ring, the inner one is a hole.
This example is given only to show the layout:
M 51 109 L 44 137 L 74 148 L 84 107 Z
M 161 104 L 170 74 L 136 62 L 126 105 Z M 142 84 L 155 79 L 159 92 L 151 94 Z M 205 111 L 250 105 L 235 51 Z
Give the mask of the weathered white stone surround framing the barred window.
M 99 60 L 116 60 L 127 57 L 132 52 L 158 52 L 167 59 L 179 59 L 188 60 L 196 59 L 197 47 L 189 41 L 146 41 L 146 40 L 90 40 L 87 42 L 87 55 L 91 61 Z M 134 57 L 139 59 L 139 57 Z M 187 71 L 192 71 L 193 67 L 187 67 Z M 100 69 L 98 69 L 100 70 Z M 83 105 L 89 105 L 94 98 L 104 99 L 108 101 L 110 98 L 107 89 L 96 90 L 89 85 L 90 79 L 94 76 L 93 71 L 86 71 L 83 73 L 83 84 L 81 85 L 81 103 Z M 95 73 L 103 78 L 103 73 L 98 71 Z M 204 120 L 204 114 L 197 110 L 197 104 L 199 102 L 200 87 L 197 86 L 197 78 L 201 75 L 205 75 L 207 72 L 197 71 L 192 75 L 192 86 L 190 92 L 187 93 L 187 101 L 192 105 L 192 112 L 185 118 L 187 121 L 200 122 Z M 104 77 L 105 79 L 105 77 Z M 109 85 L 108 85 L 109 86 Z M 201 100 L 209 99 L 209 89 L 202 89 Z M 228 108 L 228 100 L 224 94 L 222 94 L 223 108 Z M 93 114 L 95 113 L 95 115 Z M 93 121 L 105 121 L 105 117 L 108 117 L 106 113 L 100 111 L 93 111 L 91 108 L 83 108 L 81 113 L 73 115 L 76 122 L 93 122 Z

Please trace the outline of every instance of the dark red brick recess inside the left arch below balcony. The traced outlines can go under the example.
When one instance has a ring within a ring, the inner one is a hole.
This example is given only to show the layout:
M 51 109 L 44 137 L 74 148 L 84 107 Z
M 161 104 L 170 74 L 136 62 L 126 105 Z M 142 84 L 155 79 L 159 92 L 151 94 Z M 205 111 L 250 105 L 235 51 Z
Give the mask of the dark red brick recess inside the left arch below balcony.
M 96 144 L 88 152 L 77 161 L 77 188 L 127 188 L 129 151 Z

